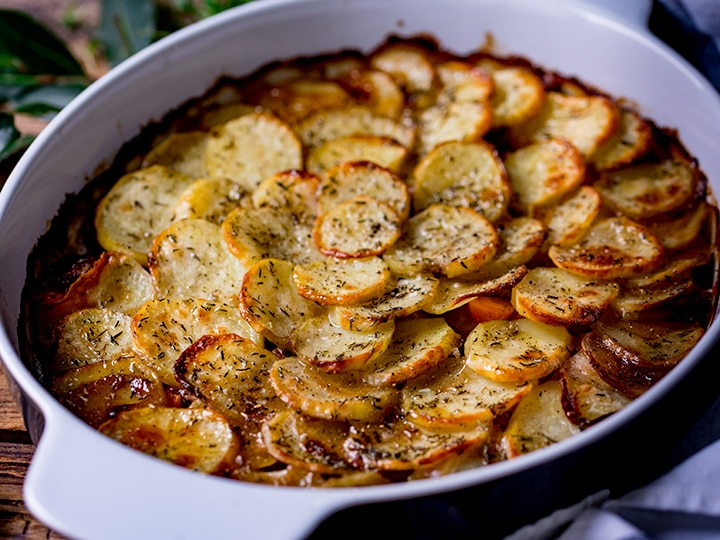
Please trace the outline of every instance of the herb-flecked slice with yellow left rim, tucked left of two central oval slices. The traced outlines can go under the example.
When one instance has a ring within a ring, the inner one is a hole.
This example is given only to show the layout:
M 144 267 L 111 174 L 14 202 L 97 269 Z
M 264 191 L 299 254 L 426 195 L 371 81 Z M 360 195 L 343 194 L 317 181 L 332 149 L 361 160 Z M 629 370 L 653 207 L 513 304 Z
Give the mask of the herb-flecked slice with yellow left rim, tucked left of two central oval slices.
M 295 287 L 294 267 L 289 261 L 262 259 L 245 274 L 240 291 L 243 316 L 280 347 L 290 345 L 290 335 L 306 317 L 320 312 L 318 305 L 303 298 Z

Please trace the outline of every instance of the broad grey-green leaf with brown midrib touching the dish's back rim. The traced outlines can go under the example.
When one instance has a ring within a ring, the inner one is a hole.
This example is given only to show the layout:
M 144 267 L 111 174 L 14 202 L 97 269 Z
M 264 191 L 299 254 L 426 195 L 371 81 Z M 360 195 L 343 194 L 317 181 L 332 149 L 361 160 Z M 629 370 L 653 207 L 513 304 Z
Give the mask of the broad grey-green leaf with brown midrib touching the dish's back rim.
M 117 65 L 152 43 L 155 37 L 155 2 L 103 0 L 99 38 L 108 61 Z

